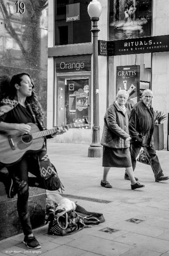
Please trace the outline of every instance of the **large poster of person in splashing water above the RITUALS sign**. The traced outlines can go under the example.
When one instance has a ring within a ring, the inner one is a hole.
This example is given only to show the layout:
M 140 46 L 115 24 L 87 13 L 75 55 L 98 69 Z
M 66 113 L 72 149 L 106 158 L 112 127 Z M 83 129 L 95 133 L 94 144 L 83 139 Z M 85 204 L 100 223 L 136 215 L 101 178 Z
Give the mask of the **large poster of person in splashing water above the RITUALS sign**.
M 151 37 L 152 0 L 110 0 L 109 40 Z

